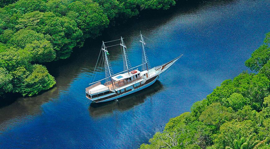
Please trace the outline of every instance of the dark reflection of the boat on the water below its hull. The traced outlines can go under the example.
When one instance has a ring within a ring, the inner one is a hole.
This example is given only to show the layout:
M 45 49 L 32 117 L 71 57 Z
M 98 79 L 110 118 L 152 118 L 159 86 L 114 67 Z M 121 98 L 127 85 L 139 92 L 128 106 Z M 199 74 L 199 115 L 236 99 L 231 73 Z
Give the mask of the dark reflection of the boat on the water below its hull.
M 163 85 L 160 83 L 159 80 L 157 80 L 147 89 L 119 98 L 118 101 L 114 100 L 102 103 L 91 103 L 88 108 L 90 116 L 92 117 L 108 116 L 111 115 L 115 110 L 125 111 L 131 109 L 134 106 L 143 103 L 147 97 L 158 93 L 163 88 L 164 88 Z

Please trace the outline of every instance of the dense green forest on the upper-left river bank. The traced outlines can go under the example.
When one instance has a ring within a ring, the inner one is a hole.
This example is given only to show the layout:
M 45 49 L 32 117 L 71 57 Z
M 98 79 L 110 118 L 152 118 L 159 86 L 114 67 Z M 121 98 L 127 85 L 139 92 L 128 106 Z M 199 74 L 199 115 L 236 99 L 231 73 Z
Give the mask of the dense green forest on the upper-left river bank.
M 32 96 L 56 81 L 44 62 L 66 59 L 86 38 L 174 0 L 0 0 L 0 97 Z

